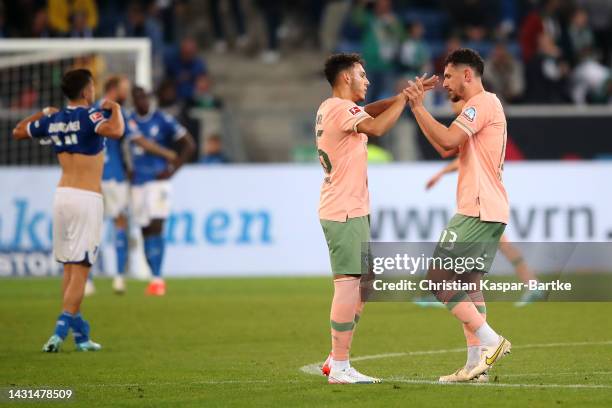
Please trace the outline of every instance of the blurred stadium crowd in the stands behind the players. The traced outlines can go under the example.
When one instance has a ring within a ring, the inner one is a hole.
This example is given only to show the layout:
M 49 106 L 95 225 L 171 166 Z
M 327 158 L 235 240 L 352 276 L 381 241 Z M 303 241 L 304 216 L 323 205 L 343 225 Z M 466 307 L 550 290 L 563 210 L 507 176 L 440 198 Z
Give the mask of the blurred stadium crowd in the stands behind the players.
M 252 56 L 253 10 L 261 15 L 266 32 L 264 44 L 257 47 L 260 58 L 275 63 L 285 53 L 280 51 L 283 41 L 321 47 L 319 36 L 312 33 L 322 32 L 326 14 L 338 5 L 344 7 L 340 24 L 332 30 L 333 48 L 363 54 L 371 99 L 392 94 L 415 73 L 441 72 L 444 56 L 466 46 L 486 58 L 486 86 L 506 102 L 612 102 L 608 0 L 216 0 L 202 7 L 188 0 L 0 4 L 3 37 L 150 38 L 154 57 L 163 66 L 156 84 L 166 106 L 221 105 L 200 47 Z M 441 93 L 437 96 L 443 99 Z

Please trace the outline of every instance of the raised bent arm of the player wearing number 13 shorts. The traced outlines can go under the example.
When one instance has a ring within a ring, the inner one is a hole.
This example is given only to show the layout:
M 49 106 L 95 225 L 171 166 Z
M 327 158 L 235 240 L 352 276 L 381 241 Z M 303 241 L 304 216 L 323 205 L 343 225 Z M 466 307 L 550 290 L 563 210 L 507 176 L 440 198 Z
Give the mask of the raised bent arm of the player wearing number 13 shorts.
M 444 126 L 431 116 L 423 106 L 423 84 L 420 79 L 406 88 L 410 99 L 410 107 L 423 134 L 432 146 L 442 155 L 448 157 L 457 153 L 457 148 L 465 142 L 468 134 L 457 125 Z

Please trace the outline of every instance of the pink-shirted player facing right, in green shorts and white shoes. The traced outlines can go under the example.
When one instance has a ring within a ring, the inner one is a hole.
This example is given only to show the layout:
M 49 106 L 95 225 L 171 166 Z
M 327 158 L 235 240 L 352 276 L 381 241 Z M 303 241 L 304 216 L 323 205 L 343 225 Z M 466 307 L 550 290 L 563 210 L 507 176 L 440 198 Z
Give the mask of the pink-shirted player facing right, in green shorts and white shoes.
M 360 107 L 370 82 L 358 54 L 336 54 L 325 63 L 332 96 L 318 109 L 315 132 L 325 177 L 319 218 L 334 275 L 330 324 L 332 351 L 322 372 L 332 384 L 378 383 L 349 363 L 355 325 L 363 310 L 360 294 L 362 243 L 370 240 L 370 198 L 367 175 L 368 136 L 382 136 L 397 122 L 406 94 Z M 424 86 L 435 77 L 421 78 Z

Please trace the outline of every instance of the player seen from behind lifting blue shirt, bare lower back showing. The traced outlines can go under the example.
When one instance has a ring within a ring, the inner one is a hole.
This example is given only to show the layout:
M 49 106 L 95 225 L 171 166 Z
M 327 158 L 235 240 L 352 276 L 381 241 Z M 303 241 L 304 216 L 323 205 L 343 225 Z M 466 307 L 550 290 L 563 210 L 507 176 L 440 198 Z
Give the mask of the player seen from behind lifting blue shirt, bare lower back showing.
M 67 72 L 62 92 L 68 105 L 57 110 L 45 108 L 17 124 L 15 139 L 44 139 L 52 144 L 62 168 L 53 202 L 53 253 L 64 264 L 63 311 L 55 332 L 43 351 L 57 352 L 72 329 L 77 350 L 99 350 L 89 338 L 89 324 L 80 314 L 85 282 L 96 261 L 102 233 L 103 201 L 100 181 L 104 167 L 105 137 L 123 135 L 120 106 L 104 101 L 102 111 L 92 108 L 94 82 L 85 69 Z

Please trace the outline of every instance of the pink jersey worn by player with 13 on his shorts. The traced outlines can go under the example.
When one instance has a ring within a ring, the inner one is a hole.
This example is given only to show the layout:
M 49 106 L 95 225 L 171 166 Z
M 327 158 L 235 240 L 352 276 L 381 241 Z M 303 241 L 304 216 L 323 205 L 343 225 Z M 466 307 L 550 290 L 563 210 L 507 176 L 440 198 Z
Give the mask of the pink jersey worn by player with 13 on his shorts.
M 506 116 L 497 96 L 470 98 L 453 122 L 468 134 L 459 148 L 457 212 L 483 221 L 508 223 L 508 196 L 502 182 Z

